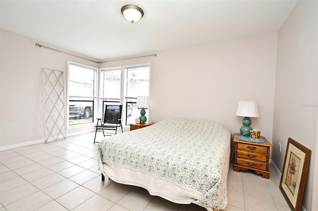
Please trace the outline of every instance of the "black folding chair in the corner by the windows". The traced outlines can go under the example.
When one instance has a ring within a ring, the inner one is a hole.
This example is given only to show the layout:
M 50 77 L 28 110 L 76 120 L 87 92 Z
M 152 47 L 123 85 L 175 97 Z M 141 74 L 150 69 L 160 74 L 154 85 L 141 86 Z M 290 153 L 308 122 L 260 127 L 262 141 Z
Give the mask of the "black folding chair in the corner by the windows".
M 105 136 L 111 136 L 111 135 L 105 135 L 104 130 L 115 130 L 115 135 L 117 134 L 117 128 L 121 127 L 121 132 L 123 132 L 123 126 L 121 124 L 121 112 L 122 112 L 123 105 L 106 105 L 105 107 L 105 114 L 104 118 L 97 118 L 97 125 L 96 131 L 95 131 L 95 138 L 94 138 L 94 144 L 99 143 L 96 142 L 96 133 L 97 130 L 102 130 L 103 135 Z

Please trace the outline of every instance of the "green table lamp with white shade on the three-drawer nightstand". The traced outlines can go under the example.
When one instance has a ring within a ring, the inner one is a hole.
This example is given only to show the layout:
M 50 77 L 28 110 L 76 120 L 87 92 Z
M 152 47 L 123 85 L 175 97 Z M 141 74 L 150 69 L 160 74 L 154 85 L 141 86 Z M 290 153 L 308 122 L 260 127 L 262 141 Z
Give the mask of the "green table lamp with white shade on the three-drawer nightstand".
M 249 136 L 249 131 L 252 121 L 249 117 L 259 117 L 257 101 L 240 101 L 238 105 L 237 116 L 244 116 L 243 126 L 240 127 L 239 132 L 242 136 Z

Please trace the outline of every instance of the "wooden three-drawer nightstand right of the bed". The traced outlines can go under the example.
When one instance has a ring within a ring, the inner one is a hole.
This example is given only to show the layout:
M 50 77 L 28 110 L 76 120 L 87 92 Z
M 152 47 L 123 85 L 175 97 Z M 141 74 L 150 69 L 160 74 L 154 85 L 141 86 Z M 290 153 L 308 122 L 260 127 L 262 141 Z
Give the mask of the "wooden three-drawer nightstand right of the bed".
M 234 165 L 235 171 L 245 171 L 251 169 L 262 177 L 269 179 L 269 150 L 273 145 L 264 137 L 263 143 L 248 142 L 239 140 L 234 134 L 235 155 Z

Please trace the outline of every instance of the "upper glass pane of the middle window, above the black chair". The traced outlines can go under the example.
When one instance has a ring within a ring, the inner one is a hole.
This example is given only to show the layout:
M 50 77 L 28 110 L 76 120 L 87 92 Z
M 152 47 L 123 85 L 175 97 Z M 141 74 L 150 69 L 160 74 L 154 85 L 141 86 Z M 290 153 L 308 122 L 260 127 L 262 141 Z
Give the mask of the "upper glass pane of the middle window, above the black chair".
M 120 82 L 121 70 L 106 70 L 101 72 L 102 78 L 102 98 L 119 99 L 120 98 Z

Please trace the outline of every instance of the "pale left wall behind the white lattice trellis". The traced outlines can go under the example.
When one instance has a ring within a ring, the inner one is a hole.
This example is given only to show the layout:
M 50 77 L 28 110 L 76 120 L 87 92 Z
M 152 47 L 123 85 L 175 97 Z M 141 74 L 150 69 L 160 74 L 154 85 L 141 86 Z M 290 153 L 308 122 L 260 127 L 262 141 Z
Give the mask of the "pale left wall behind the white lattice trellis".
M 76 56 L 36 47 L 36 43 L 52 46 L 2 29 L 0 33 L 0 147 L 6 149 L 8 146 L 10 148 L 23 146 L 26 143 L 42 142 L 44 128 L 40 123 L 43 122 L 41 68 L 64 71 L 66 86 L 68 59 L 91 66 L 98 67 L 98 64 Z M 77 133 L 93 128 L 92 125 L 68 129 L 67 133 Z

